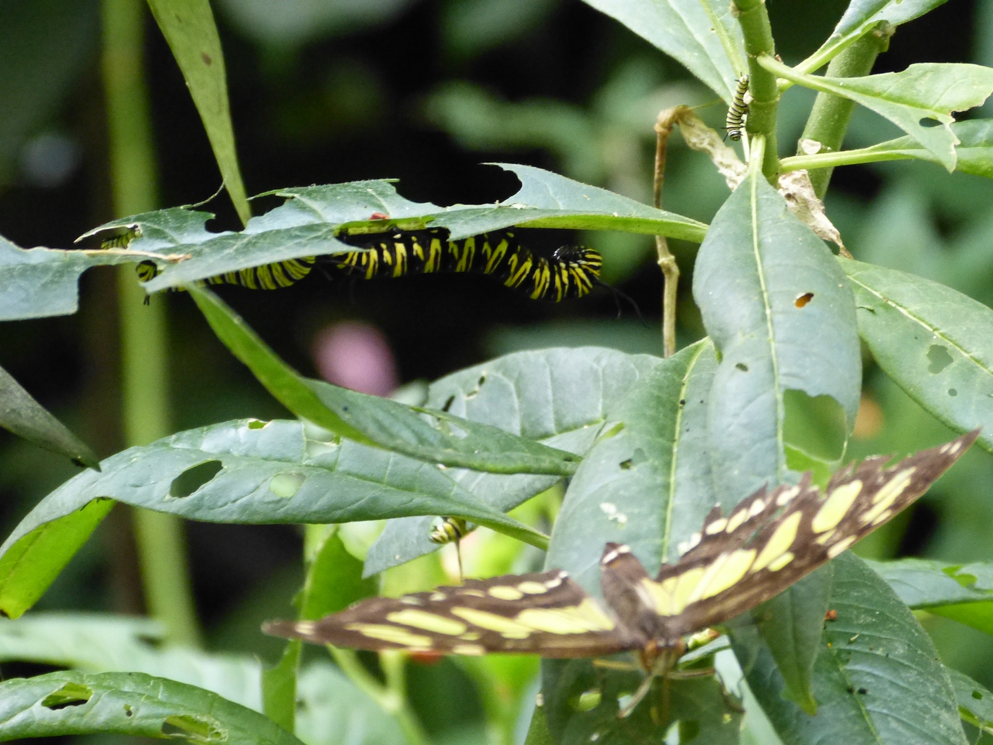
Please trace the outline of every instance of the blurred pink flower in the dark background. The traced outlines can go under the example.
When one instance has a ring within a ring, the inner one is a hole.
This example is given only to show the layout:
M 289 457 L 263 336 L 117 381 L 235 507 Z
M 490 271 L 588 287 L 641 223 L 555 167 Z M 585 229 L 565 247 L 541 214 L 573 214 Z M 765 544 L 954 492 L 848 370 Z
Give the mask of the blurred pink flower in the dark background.
M 314 337 L 314 364 L 328 382 L 372 395 L 396 388 L 393 353 L 381 331 L 360 321 L 332 324 Z

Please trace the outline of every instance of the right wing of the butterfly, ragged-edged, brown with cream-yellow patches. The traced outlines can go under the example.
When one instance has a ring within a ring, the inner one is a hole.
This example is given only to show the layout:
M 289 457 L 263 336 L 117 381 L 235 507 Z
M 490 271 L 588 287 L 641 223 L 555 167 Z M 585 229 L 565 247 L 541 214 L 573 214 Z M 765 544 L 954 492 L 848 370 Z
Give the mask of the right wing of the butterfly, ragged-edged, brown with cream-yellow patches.
M 871 458 L 834 476 L 762 490 L 724 518 L 712 513 L 675 564 L 642 580 L 675 639 L 753 608 L 834 558 L 917 500 L 978 436 L 970 432 L 885 468 Z

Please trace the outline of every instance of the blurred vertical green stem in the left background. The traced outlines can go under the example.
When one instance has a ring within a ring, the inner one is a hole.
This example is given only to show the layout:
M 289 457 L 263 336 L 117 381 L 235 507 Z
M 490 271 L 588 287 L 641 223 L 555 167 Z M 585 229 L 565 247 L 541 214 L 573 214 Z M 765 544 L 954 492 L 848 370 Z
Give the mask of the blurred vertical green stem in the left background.
M 103 0 L 101 9 L 110 180 L 118 217 L 153 210 L 158 202 L 142 59 L 144 7 L 141 0 Z M 161 302 L 143 304 L 145 293 L 129 268 L 118 280 L 123 426 L 129 445 L 145 445 L 170 431 L 166 309 Z M 197 646 L 182 523 L 145 510 L 135 512 L 134 522 L 149 612 L 165 627 L 169 643 Z

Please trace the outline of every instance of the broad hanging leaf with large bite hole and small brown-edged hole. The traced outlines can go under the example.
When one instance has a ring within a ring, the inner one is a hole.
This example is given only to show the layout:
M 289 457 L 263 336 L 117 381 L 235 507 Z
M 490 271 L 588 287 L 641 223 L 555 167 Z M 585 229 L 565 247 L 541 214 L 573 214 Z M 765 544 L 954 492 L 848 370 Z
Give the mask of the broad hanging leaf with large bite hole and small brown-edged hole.
M 700 246 L 693 297 L 721 355 L 708 401 L 714 490 L 733 506 L 789 480 L 793 398 L 823 400 L 850 431 L 862 381 L 855 303 L 824 242 L 765 179 L 749 178 Z M 790 393 L 789 391 L 796 391 Z M 837 457 L 840 458 L 840 445 Z

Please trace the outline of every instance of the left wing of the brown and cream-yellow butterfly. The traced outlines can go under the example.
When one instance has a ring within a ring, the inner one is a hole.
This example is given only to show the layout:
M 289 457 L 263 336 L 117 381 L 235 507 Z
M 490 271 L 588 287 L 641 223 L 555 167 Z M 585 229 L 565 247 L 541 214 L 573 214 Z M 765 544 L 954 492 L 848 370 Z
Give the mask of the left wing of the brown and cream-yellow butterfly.
M 313 644 L 446 655 L 597 657 L 644 644 L 559 570 L 370 598 L 320 621 L 274 621 L 263 631 Z

